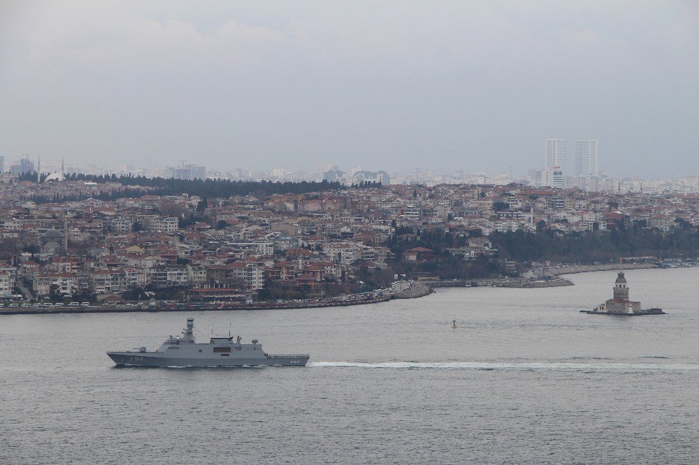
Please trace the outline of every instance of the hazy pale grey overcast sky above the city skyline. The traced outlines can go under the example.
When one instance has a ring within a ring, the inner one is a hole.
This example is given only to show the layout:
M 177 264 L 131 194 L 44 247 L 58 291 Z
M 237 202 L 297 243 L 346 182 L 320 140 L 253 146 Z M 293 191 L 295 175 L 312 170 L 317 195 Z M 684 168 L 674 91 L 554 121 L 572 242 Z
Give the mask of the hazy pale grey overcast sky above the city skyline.
M 699 174 L 699 3 L 0 3 L 6 163 L 518 172 L 545 138 Z

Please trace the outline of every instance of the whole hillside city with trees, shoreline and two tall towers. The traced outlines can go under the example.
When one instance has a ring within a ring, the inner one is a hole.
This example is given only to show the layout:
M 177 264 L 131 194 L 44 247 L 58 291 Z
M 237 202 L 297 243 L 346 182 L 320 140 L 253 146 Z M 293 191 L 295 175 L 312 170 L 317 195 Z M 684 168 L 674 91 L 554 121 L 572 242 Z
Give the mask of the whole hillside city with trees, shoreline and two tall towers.
M 6 170 L 0 157 L 0 298 L 363 302 L 420 281 L 531 285 L 552 261 L 696 258 L 697 177 L 607 177 L 596 140 L 575 142 L 569 169 L 566 145 L 547 140 L 544 167 L 521 178 L 184 162 L 86 173 L 28 156 Z

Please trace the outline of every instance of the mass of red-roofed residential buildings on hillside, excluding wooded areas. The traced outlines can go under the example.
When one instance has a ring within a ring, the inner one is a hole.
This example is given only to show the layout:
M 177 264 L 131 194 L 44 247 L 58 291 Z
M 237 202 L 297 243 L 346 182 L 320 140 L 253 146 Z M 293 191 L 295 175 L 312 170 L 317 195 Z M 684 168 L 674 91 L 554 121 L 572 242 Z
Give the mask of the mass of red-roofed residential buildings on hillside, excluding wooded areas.
M 355 167 L 349 175 L 363 172 Z M 599 191 L 563 189 L 557 166 L 540 171 L 538 187 L 391 184 L 206 202 L 110 178 L 39 184 L 10 176 L 0 184 L 4 300 L 20 292 L 27 299 L 112 301 L 158 293 L 199 302 L 249 301 L 264 292 L 338 295 L 366 288 L 367 281 L 385 285 L 394 274 L 459 274 L 451 258 L 461 267 L 516 272 L 519 264 L 498 256 L 490 242 L 498 232 L 668 234 L 699 225 L 697 179 L 673 180 L 678 193 L 636 178 Z M 600 177 L 599 185 L 605 182 Z M 649 184 L 661 193 L 646 191 Z M 105 200 L 108 195 L 115 200 Z

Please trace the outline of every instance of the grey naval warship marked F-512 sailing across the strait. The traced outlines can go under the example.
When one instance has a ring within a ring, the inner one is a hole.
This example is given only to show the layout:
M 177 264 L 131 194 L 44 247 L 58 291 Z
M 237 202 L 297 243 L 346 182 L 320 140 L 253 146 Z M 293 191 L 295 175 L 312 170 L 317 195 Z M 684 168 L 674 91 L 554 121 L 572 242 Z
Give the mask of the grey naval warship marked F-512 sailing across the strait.
M 304 367 L 308 354 L 272 355 L 262 350 L 257 339 L 252 344 L 241 344 L 240 336 L 212 337 L 208 344 L 194 340 L 194 318 L 187 318 L 182 336 L 170 336 L 154 352 L 145 347 L 126 352 L 108 352 L 117 367 Z

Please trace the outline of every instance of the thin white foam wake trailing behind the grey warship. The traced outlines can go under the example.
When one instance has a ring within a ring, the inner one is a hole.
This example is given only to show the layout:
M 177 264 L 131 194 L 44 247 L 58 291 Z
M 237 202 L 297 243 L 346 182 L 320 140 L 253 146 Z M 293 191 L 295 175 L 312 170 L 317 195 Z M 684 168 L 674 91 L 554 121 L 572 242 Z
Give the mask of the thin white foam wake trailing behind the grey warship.
M 384 369 L 481 369 L 481 370 L 668 370 L 695 371 L 699 364 L 667 364 L 667 363 L 500 363 L 500 362 L 308 362 L 307 367 L 351 367 L 351 368 L 384 368 Z

